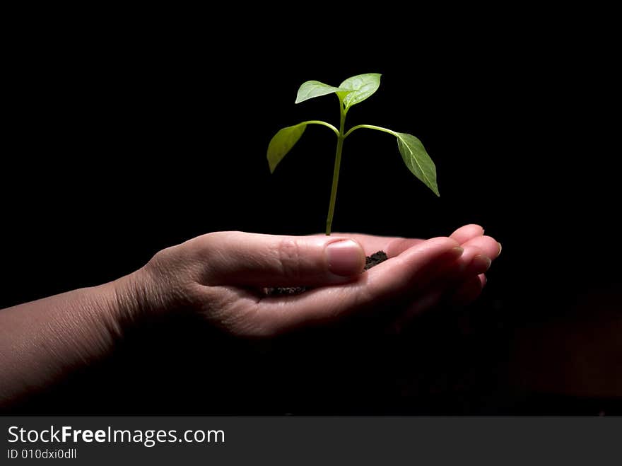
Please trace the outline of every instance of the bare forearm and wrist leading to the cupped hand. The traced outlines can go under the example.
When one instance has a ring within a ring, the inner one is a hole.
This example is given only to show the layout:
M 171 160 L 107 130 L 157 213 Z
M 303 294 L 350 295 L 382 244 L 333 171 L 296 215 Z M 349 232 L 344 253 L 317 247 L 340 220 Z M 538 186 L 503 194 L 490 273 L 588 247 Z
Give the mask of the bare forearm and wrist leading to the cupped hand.
M 0 407 L 110 354 L 139 314 L 138 274 L 0 310 Z

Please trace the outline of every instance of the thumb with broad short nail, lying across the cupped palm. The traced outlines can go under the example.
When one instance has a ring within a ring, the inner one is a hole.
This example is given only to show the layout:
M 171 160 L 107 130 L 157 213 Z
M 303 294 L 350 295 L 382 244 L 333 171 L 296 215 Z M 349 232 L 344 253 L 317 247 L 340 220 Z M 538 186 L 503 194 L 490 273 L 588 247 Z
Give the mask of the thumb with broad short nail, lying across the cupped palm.
M 320 286 L 363 272 L 365 252 L 350 238 L 210 233 L 204 237 L 208 284 Z

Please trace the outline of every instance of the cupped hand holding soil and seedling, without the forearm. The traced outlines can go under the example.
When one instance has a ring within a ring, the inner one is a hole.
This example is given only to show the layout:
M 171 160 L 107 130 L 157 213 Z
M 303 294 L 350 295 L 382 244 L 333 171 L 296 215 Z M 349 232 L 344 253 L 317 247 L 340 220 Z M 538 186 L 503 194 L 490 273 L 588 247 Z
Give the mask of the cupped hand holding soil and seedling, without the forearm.
M 389 260 L 362 273 L 365 255 L 377 250 Z M 499 252 L 476 225 L 430 240 L 216 232 L 158 252 L 136 272 L 135 286 L 143 312 L 190 309 L 240 336 L 271 336 L 395 303 L 399 328 L 442 301 L 479 296 Z M 262 289 L 272 286 L 312 289 L 266 296 Z

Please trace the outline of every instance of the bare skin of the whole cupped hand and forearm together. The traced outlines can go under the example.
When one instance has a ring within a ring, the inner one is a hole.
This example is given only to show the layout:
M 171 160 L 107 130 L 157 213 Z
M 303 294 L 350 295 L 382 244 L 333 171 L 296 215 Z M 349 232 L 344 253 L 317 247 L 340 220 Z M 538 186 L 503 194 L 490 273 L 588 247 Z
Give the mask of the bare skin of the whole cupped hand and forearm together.
M 336 255 L 327 255 L 329 245 Z M 365 255 L 377 250 L 389 260 L 363 273 Z M 110 283 L 0 310 L 0 407 L 105 358 L 130 325 L 152 315 L 183 310 L 237 337 L 273 337 L 399 303 L 379 322 L 382 330 L 400 332 L 440 303 L 473 301 L 499 253 L 500 244 L 477 225 L 430 240 L 202 235 Z M 298 285 L 313 289 L 298 296 L 262 293 Z

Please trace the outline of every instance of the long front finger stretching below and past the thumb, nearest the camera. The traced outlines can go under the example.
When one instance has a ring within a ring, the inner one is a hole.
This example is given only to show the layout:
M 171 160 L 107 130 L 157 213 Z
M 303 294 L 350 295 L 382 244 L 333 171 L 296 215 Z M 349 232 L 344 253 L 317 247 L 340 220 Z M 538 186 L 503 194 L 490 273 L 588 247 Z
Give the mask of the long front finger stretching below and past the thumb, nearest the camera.
M 324 287 L 298 296 L 263 298 L 262 321 L 274 332 L 321 322 L 382 306 L 421 293 L 430 281 L 457 263 L 462 248 L 450 238 L 433 238 L 411 247 L 341 286 Z

